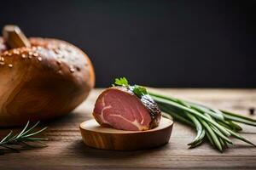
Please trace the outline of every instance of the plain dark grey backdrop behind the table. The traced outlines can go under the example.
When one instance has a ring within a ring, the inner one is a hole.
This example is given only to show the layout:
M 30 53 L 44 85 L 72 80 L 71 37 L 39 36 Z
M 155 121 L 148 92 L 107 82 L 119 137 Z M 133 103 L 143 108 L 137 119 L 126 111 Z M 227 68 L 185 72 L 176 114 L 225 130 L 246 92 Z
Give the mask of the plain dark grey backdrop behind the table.
M 96 87 L 256 88 L 255 1 L 3 1 L 0 26 L 82 48 Z

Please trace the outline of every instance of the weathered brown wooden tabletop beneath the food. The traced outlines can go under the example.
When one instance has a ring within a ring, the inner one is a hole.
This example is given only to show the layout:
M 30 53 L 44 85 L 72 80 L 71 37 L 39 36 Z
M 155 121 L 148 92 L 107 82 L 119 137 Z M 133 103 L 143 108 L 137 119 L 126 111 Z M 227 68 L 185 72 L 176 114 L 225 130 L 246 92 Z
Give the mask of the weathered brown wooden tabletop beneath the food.
M 248 115 L 256 107 L 256 89 L 160 89 L 183 99 Z M 22 150 L 0 156 L 0 169 L 256 169 L 256 148 L 235 139 L 236 145 L 219 153 L 209 144 L 193 150 L 187 144 L 194 130 L 175 122 L 169 144 L 150 150 L 96 150 L 83 144 L 79 123 L 90 119 L 97 95 L 90 97 L 73 113 L 49 122 L 44 133 L 49 145 L 43 149 Z M 3 136 L 9 131 L 2 128 Z M 256 128 L 244 126 L 243 135 L 256 143 Z

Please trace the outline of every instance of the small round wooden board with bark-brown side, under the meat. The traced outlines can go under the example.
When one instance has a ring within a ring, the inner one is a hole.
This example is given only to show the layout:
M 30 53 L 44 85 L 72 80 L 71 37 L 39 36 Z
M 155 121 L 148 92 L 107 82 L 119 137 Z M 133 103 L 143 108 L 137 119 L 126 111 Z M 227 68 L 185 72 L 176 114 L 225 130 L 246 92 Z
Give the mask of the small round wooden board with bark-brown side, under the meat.
M 96 120 L 82 122 L 84 144 L 103 150 L 142 150 L 168 143 L 173 122 L 164 117 L 160 125 L 148 131 L 125 131 L 101 127 Z

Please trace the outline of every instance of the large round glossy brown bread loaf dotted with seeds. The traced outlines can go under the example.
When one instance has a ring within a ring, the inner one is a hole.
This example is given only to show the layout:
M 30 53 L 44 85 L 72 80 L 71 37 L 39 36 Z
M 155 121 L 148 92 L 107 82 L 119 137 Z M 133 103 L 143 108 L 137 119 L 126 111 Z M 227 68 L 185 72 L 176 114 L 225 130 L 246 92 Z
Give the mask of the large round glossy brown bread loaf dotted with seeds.
M 0 126 L 48 120 L 73 111 L 95 84 L 90 59 L 68 42 L 32 37 L 12 48 L 0 37 Z

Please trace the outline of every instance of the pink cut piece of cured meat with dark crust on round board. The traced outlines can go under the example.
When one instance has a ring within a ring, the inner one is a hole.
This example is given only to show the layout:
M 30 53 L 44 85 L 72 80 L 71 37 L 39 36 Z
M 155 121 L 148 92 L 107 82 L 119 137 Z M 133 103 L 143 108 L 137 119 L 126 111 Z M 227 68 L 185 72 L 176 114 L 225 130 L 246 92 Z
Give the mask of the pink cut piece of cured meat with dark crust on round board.
M 157 127 L 161 114 L 148 94 L 140 99 L 129 88 L 113 87 L 98 97 L 93 116 L 104 127 L 143 131 Z

